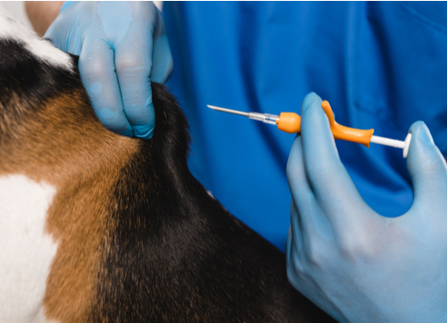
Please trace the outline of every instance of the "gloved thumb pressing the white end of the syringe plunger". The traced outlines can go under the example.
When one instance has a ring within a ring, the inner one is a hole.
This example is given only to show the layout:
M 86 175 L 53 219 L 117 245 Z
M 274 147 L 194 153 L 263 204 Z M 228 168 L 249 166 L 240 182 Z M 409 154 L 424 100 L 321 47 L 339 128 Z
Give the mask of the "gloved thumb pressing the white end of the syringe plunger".
M 441 151 L 434 144 L 426 123 L 418 121 L 409 128 L 412 134 L 407 166 L 413 183 L 414 203 L 445 200 L 447 194 L 447 165 Z

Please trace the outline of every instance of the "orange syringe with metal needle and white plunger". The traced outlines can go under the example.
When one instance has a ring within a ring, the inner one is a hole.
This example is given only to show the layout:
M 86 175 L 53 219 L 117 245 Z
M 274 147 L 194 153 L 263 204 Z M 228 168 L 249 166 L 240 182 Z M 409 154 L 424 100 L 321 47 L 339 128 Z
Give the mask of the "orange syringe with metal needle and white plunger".
M 209 108 L 215 111 L 222 111 L 233 115 L 247 116 L 249 119 L 262 121 L 263 123 L 277 124 L 278 129 L 283 132 L 296 133 L 301 131 L 301 117 L 295 113 L 283 112 L 281 115 L 259 114 L 257 112 L 243 112 L 238 110 L 227 109 L 220 106 L 210 106 Z M 392 140 L 384 137 L 374 136 L 374 129 L 360 130 L 355 128 L 345 127 L 342 124 L 336 123 L 333 117 L 333 111 L 329 102 L 323 101 L 322 105 L 325 114 L 329 119 L 333 137 L 340 140 L 348 140 L 361 143 L 369 147 L 369 143 L 377 143 L 384 146 L 403 149 L 403 157 L 406 158 L 409 152 L 409 142 L 411 141 L 411 133 L 407 135 L 405 141 Z

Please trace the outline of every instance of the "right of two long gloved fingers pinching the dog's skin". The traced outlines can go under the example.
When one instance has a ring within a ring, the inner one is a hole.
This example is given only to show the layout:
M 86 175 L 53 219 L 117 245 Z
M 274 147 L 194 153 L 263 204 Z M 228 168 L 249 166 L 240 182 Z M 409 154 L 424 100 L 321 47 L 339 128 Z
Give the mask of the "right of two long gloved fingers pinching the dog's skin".
M 124 113 L 136 137 L 152 138 L 156 123 L 150 75 L 152 71 L 152 54 L 156 10 L 141 7 L 147 21 L 140 26 L 131 24 L 129 36 L 115 45 L 115 66 L 120 83 Z M 133 30 L 138 28 L 139 30 Z M 141 30 L 142 29 L 142 30 Z M 137 32 L 138 31 L 138 32 Z

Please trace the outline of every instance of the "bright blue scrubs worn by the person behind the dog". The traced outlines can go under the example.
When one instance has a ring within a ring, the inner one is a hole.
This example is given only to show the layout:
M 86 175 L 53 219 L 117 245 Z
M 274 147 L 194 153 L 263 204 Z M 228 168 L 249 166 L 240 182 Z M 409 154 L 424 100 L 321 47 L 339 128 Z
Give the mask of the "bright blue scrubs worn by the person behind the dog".
M 207 104 L 298 112 L 310 91 L 338 123 L 404 140 L 423 120 L 447 153 L 445 3 L 164 3 L 174 70 L 168 87 L 190 120 L 190 170 L 257 233 L 285 250 L 294 136 Z M 337 141 L 358 191 L 386 217 L 412 189 L 401 149 Z M 347 200 L 346 203 L 350 201 Z

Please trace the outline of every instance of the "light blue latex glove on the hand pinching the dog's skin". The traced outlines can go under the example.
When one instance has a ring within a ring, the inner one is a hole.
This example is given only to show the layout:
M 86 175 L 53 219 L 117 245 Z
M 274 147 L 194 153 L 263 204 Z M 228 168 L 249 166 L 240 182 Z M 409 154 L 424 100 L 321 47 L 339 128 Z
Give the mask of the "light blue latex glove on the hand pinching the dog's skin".
M 150 81 L 164 83 L 173 58 L 161 13 L 151 2 L 73 2 L 46 31 L 80 56 L 80 77 L 105 127 L 149 139 L 155 126 Z

